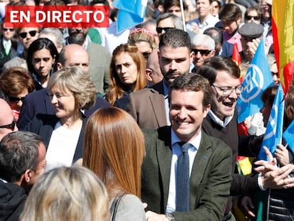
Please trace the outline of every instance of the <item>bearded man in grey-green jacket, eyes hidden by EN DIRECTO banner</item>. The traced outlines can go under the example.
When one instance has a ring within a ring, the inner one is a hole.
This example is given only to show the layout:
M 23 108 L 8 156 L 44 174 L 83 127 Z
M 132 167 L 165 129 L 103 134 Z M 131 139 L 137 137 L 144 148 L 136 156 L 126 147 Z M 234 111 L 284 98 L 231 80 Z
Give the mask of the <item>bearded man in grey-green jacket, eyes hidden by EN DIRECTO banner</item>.
M 96 86 L 96 90 L 101 95 L 105 95 L 109 87 L 109 65 L 111 55 L 102 45 L 93 43 L 87 36 L 89 28 L 69 28 L 68 44 L 81 45 L 89 54 L 89 75 Z

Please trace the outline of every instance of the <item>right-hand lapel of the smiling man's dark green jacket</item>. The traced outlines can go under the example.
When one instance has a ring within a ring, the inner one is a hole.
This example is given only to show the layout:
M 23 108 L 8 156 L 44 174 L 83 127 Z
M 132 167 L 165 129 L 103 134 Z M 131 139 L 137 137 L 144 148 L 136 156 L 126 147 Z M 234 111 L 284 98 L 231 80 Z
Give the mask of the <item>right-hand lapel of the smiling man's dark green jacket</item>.
M 209 138 L 205 132 L 202 131 L 200 147 L 195 156 L 190 176 L 190 209 L 194 209 L 196 195 L 193 193 L 196 192 L 196 189 L 198 188 L 200 181 L 204 176 L 205 168 L 207 167 L 207 163 L 209 162 L 211 155 L 212 149 L 209 145 Z

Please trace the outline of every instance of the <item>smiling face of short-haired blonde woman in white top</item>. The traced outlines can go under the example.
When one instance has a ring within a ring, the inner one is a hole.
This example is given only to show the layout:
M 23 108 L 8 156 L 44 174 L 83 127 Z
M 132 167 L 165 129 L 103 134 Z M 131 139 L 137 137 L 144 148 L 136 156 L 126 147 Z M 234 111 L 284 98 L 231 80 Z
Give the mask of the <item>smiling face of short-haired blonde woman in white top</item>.
M 60 88 L 55 86 L 50 91 L 51 103 L 56 112 L 56 117 L 70 118 L 78 111 L 75 105 L 75 97 L 67 88 Z

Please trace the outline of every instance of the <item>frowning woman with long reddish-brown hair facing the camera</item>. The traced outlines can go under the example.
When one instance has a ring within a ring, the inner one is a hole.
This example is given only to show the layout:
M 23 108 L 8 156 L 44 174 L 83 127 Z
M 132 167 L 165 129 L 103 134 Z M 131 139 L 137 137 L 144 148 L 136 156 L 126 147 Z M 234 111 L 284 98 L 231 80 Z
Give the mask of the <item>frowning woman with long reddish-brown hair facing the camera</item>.
M 136 45 L 127 43 L 117 46 L 109 68 L 107 101 L 113 105 L 116 99 L 146 87 L 145 70 L 146 61 Z

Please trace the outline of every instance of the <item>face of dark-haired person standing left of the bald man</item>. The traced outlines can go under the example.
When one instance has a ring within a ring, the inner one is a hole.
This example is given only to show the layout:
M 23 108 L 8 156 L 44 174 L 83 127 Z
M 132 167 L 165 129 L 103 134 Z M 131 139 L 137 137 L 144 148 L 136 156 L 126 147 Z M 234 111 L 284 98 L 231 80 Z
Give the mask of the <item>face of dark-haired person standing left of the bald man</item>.
M 32 63 L 36 74 L 40 77 L 48 77 L 50 75 L 51 68 L 55 58 L 50 54 L 50 51 L 46 48 L 37 50 L 33 53 Z

